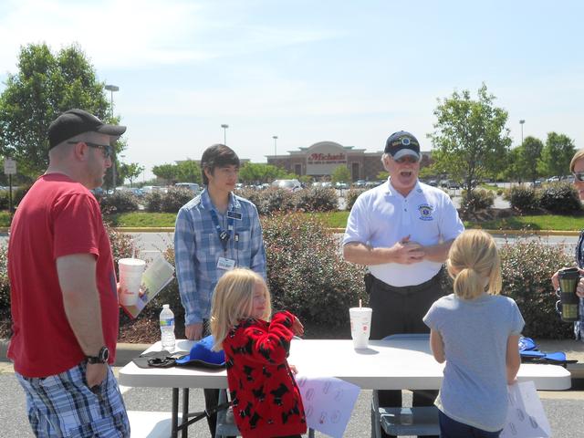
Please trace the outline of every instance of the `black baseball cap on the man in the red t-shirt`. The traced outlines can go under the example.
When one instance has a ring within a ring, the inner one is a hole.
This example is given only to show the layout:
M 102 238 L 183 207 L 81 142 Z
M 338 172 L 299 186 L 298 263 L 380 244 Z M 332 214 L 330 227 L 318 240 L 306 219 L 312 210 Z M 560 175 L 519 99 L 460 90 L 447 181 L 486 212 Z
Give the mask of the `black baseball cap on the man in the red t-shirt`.
M 53 120 L 48 127 L 48 149 L 83 132 L 109 135 L 110 143 L 126 131 L 125 126 L 108 125 L 85 110 L 68 110 Z

